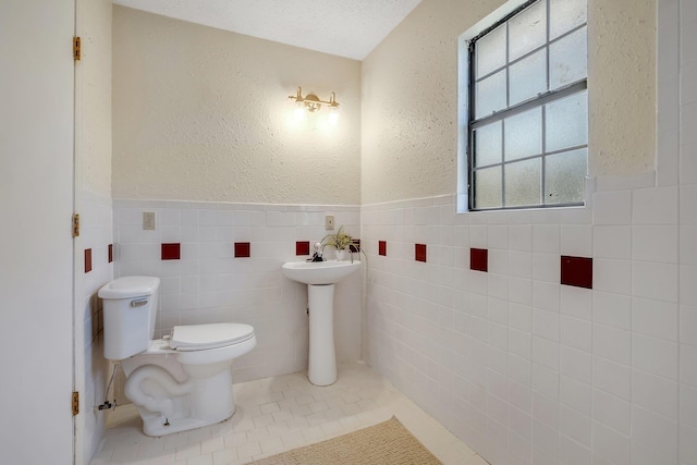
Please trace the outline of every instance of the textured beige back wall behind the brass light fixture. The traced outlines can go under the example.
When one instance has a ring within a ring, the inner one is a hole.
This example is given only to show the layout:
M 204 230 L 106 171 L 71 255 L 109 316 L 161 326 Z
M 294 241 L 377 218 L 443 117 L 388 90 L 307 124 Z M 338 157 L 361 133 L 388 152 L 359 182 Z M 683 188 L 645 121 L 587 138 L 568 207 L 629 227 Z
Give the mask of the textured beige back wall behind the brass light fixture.
M 359 105 L 358 61 L 113 8 L 114 198 L 358 204 Z

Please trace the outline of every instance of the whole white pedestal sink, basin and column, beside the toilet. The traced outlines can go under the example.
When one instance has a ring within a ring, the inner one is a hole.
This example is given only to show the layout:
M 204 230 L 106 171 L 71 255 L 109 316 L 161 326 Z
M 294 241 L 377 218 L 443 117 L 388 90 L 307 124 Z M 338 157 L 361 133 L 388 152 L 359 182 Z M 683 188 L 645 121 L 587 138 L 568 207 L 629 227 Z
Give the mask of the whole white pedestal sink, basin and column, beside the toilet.
M 334 284 L 360 267 L 360 261 L 289 261 L 283 274 L 307 284 L 309 363 L 307 378 L 316 386 L 337 381 L 334 351 Z

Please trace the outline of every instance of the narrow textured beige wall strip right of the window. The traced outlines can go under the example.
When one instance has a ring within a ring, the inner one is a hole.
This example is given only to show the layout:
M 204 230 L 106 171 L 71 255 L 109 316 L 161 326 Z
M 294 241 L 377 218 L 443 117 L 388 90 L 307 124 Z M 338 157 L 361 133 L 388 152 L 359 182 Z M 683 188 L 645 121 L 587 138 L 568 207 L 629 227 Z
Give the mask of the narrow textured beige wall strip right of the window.
M 590 175 L 656 169 L 656 0 L 589 0 Z

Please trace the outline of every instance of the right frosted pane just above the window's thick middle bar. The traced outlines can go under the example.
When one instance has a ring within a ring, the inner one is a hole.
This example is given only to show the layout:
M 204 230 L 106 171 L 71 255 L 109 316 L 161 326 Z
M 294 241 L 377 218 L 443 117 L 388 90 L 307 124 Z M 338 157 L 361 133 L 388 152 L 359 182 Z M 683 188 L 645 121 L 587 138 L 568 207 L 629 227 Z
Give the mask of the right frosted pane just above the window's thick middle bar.
M 549 87 L 559 88 L 588 75 L 586 27 L 550 44 Z

